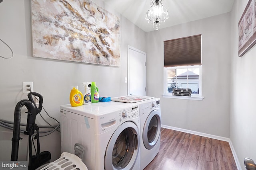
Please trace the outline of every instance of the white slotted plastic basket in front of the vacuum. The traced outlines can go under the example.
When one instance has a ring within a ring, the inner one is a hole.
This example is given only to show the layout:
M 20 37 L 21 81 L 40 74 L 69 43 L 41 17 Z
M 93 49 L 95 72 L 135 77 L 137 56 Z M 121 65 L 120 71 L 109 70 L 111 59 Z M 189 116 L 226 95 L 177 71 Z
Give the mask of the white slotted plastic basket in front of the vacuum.
M 41 167 L 36 170 L 88 170 L 81 158 L 68 152 L 63 152 L 59 159 Z

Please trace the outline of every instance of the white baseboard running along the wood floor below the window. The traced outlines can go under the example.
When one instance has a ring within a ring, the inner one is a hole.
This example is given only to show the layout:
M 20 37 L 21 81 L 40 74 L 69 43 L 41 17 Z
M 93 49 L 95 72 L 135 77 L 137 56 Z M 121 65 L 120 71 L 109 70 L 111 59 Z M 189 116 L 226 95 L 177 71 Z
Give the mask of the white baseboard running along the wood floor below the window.
M 210 135 L 210 134 L 206 134 L 206 133 L 201 133 L 201 132 L 197 132 L 197 131 L 191 131 L 191 130 L 187 130 L 187 129 L 182 129 L 182 128 L 178 128 L 178 127 L 172 127 L 172 126 L 167 126 L 167 125 L 161 125 L 161 127 L 166 128 L 166 129 L 172 129 L 174 131 L 180 131 L 180 132 L 184 132 L 184 133 L 190 133 L 190 134 L 194 134 L 194 135 L 198 135 L 198 136 L 203 136 L 203 137 L 208 137 L 208 138 L 212 138 L 212 139 L 217 139 L 220 141 L 226 141 L 229 143 L 231 152 L 233 154 L 234 160 L 236 162 L 236 167 L 238 170 L 242 170 L 241 165 L 239 163 L 238 157 L 236 155 L 236 151 L 232 145 L 232 142 L 229 138 L 226 137 L 220 137 L 220 136 L 216 136 L 216 135 Z

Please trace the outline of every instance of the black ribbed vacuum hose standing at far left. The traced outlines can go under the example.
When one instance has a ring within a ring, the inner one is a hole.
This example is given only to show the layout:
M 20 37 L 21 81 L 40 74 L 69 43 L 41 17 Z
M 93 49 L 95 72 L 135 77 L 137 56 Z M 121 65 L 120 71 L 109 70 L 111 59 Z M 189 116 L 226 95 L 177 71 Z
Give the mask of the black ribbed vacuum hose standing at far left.
M 13 124 L 13 136 L 12 136 L 12 155 L 11 160 L 18 160 L 18 150 L 20 142 L 20 115 L 21 107 L 30 102 L 29 100 L 21 100 L 15 106 L 14 110 L 14 124 Z

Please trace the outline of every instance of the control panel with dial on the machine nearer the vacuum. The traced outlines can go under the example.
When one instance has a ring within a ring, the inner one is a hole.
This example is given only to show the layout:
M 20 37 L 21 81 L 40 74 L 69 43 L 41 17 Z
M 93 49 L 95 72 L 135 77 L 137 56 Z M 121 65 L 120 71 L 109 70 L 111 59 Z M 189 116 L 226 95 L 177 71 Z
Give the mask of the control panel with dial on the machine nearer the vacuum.
M 122 123 L 123 121 L 126 121 L 127 119 L 139 117 L 139 115 L 140 114 L 139 114 L 138 106 L 123 109 L 122 111 L 118 112 L 118 123 Z

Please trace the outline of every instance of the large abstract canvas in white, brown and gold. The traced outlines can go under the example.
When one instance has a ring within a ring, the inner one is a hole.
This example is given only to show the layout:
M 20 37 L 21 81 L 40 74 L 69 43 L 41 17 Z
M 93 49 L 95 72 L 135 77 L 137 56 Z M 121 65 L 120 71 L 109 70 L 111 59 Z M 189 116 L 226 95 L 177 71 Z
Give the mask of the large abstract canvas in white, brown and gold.
M 33 56 L 120 66 L 120 19 L 90 0 L 31 0 Z

